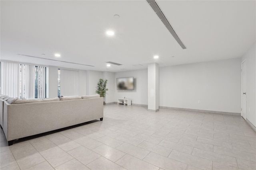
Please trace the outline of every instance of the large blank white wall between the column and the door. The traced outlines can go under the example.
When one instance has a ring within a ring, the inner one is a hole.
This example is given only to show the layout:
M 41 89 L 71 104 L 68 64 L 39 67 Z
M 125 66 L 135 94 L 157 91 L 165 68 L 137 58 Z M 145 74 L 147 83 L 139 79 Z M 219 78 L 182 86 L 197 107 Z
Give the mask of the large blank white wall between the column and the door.
M 240 113 L 240 63 L 228 59 L 160 68 L 159 106 Z

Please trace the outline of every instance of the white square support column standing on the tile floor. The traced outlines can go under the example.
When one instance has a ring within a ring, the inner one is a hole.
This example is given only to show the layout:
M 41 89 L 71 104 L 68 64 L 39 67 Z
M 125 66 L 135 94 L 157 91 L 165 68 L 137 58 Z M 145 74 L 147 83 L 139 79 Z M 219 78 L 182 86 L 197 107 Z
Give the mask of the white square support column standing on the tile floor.
M 159 111 L 158 64 L 148 64 L 148 111 Z

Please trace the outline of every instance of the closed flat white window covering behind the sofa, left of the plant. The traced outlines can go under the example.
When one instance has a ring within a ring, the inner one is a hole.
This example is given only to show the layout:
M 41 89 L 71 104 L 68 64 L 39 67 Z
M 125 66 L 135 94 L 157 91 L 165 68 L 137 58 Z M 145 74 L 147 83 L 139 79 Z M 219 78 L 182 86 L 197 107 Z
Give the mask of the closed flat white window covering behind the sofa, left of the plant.
M 60 96 L 78 96 L 78 71 L 60 69 Z

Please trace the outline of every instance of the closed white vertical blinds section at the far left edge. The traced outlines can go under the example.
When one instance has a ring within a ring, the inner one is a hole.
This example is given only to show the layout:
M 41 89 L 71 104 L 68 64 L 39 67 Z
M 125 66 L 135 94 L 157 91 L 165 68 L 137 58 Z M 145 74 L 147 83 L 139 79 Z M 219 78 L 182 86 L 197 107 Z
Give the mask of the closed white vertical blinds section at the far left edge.
M 1 62 L 1 94 L 20 97 L 20 64 Z

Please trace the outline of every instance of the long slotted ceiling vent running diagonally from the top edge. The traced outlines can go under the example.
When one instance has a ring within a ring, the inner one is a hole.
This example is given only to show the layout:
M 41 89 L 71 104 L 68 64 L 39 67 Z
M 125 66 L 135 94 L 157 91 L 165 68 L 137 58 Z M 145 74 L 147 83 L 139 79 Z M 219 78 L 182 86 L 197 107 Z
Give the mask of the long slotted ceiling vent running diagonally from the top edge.
M 172 36 L 176 39 L 176 41 L 179 43 L 179 45 L 182 47 L 182 49 L 186 49 L 185 45 L 181 42 L 180 38 L 178 35 L 175 33 L 173 30 L 172 26 L 170 25 L 169 21 L 165 18 L 163 12 L 159 8 L 159 6 L 156 4 L 155 0 L 147 0 L 147 2 L 150 4 L 150 6 L 153 8 L 153 10 L 156 12 L 160 20 L 164 23 L 166 28 L 170 31 Z

